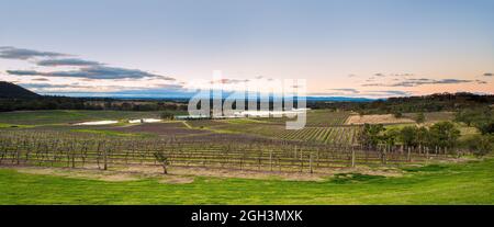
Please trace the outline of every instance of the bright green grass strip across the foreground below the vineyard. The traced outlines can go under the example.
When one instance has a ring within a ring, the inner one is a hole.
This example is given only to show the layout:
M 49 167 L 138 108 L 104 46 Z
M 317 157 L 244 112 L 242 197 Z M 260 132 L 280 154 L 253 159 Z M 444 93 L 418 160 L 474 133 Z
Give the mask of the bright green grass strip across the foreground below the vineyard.
M 197 178 L 166 184 L 68 179 L 0 169 L 0 204 L 494 204 L 494 160 L 404 169 L 401 178 L 324 182 Z

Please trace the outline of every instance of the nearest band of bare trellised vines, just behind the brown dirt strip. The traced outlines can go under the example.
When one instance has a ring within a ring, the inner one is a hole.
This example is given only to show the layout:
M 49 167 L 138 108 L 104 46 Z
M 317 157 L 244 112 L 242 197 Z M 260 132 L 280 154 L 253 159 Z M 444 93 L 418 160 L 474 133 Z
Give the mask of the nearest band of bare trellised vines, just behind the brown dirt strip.
M 335 130 L 334 133 L 337 133 Z M 326 172 L 355 166 L 424 163 L 447 154 L 417 154 L 398 148 L 371 151 L 351 146 L 319 146 L 279 141 L 181 141 L 173 139 L 105 138 L 67 133 L 16 132 L 0 136 L 0 164 L 69 168 L 161 166 L 223 168 L 278 172 Z

